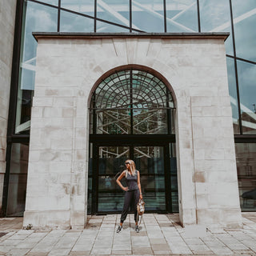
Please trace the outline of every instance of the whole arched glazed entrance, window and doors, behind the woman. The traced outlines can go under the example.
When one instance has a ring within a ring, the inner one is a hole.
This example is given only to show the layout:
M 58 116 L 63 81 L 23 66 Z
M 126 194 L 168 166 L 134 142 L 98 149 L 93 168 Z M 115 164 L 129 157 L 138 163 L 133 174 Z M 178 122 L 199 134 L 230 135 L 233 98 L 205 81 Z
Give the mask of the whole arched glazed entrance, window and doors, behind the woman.
M 126 159 L 141 173 L 146 211 L 178 212 L 174 102 L 162 80 L 148 71 L 115 71 L 94 91 L 88 213 L 122 211 L 124 192 L 116 178 Z

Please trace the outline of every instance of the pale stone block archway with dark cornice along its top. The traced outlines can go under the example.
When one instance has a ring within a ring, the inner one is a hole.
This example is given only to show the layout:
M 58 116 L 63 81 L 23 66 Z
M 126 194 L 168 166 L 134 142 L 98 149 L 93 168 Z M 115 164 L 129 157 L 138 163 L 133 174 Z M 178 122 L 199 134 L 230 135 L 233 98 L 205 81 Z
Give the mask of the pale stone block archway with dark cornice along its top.
M 225 34 L 38 34 L 24 226 L 86 223 L 90 96 L 103 74 L 140 66 L 176 106 L 183 226 L 241 226 Z

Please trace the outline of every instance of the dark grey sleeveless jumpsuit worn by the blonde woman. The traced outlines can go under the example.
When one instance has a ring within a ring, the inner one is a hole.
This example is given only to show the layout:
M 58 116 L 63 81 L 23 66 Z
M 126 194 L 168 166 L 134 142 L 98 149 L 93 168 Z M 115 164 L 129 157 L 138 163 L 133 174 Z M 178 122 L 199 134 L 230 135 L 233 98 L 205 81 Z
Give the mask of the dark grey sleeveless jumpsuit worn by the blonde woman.
M 124 222 L 128 211 L 129 206 L 131 210 L 134 210 L 134 221 L 137 221 L 137 203 L 139 199 L 139 190 L 138 190 L 138 170 L 135 170 L 134 176 L 131 174 L 127 174 L 126 183 L 128 186 L 128 190 L 125 193 L 125 202 L 123 204 L 123 210 L 121 214 L 121 221 Z

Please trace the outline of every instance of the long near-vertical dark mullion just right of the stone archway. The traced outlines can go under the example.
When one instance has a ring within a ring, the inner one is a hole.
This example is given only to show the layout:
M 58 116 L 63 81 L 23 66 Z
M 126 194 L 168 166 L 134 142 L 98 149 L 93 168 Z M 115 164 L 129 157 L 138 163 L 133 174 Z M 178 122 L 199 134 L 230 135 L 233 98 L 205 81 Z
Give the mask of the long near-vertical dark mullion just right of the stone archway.
M 236 89 L 237 89 L 237 98 L 238 98 L 238 117 L 239 117 L 239 130 L 240 134 L 242 134 L 242 119 L 241 119 L 241 106 L 240 106 L 240 94 L 239 94 L 239 84 L 238 84 L 238 65 L 237 65 L 237 54 L 235 49 L 235 42 L 234 42 L 234 22 L 233 22 L 233 10 L 232 10 L 232 3 L 230 0 L 230 19 L 231 19 L 231 33 L 233 39 L 233 50 L 234 50 L 234 74 L 235 74 L 235 82 L 236 82 Z

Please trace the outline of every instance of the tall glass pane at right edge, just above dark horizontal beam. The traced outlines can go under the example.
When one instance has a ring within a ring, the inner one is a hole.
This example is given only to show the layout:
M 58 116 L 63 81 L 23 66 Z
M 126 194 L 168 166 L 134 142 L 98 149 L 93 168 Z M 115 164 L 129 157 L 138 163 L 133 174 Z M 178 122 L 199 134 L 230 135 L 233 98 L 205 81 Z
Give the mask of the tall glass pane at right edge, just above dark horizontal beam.
M 256 134 L 256 65 L 237 62 L 242 133 Z

